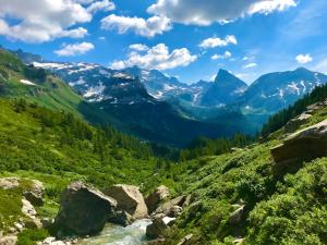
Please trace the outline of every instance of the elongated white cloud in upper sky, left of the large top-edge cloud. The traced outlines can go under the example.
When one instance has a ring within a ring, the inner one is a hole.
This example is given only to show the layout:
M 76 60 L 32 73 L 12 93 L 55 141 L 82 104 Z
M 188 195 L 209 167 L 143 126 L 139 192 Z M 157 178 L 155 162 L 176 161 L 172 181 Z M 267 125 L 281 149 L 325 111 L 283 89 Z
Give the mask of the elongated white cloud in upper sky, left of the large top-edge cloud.
M 154 37 L 171 29 L 170 20 L 166 16 L 129 17 L 110 14 L 101 20 L 102 29 L 118 29 L 120 34 L 134 32 L 144 37 Z

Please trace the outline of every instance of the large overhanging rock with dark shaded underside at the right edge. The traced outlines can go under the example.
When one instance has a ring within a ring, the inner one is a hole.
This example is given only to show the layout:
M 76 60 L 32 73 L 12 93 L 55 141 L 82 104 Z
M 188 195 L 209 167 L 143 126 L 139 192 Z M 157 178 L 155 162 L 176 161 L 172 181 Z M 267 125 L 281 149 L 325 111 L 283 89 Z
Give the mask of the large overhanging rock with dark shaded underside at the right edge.
M 290 135 L 271 155 L 277 166 L 327 156 L 327 120 Z

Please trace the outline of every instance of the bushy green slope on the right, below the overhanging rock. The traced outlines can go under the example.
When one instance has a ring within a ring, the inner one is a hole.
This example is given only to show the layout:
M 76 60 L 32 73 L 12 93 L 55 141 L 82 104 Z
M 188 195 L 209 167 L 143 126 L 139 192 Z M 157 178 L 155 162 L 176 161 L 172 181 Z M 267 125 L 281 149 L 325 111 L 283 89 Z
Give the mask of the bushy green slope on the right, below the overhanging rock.
M 327 108 L 302 127 L 326 118 Z M 240 236 L 251 245 L 327 244 L 327 158 L 306 162 L 296 173 L 276 174 L 270 149 L 284 136 L 280 130 L 267 143 L 184 162 L 162 176 L 174 193 L 198 200 L 167 234 L 168 244 L 189 233 L 192 244 L 232 244 Z M 232 205 L 240 199 L 245 217 L 230 225 Z

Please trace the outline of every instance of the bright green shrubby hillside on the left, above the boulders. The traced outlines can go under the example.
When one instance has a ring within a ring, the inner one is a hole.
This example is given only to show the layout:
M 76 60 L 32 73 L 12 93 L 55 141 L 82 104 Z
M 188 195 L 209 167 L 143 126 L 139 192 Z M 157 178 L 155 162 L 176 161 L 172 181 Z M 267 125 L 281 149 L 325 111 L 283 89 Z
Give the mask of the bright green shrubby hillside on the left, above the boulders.
M 0 171 L 73 172 L 104 186 L 141 183 L 154 170 L 150 147 L 111 127 L 96 128 L 22 99 L 0 106 Z

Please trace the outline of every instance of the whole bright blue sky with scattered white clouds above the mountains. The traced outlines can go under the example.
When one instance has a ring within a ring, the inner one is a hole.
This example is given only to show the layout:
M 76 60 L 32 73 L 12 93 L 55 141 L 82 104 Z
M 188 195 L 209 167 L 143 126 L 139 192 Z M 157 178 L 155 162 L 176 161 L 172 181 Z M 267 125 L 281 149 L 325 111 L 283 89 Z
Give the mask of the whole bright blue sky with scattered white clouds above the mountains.
M 0 44 L 185 83 L 226 69 L 251 83 L 298 66 L 327 72 L 326 9 L 325 0 L 0 0 Z

